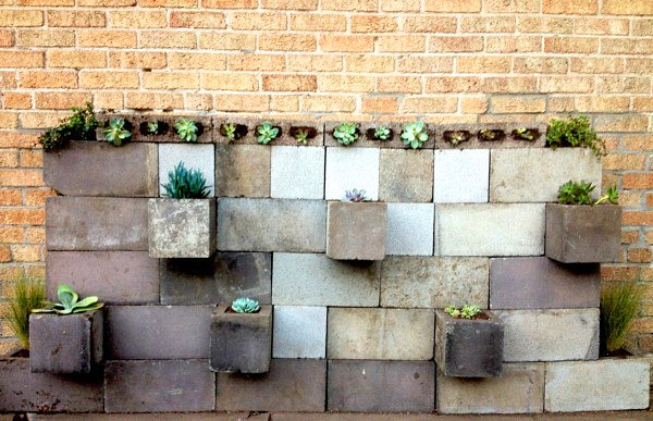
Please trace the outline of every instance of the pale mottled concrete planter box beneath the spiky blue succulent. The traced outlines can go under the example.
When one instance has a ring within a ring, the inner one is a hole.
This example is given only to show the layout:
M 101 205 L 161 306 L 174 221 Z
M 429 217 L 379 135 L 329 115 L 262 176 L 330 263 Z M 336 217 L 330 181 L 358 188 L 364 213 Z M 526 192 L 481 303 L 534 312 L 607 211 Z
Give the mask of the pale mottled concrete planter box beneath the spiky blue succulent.
M 214 199 L 150 199 L 149 256 L 209 258 L 215 250 Z

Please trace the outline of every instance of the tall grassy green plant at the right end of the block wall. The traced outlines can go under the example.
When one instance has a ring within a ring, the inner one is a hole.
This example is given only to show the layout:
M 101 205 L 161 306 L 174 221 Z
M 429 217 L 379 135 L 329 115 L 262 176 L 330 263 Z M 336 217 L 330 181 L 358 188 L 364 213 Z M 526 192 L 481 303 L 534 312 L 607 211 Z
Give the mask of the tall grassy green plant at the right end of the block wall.
M 642 296 L 642 288 L 632 283 L 608 286 L 601 292 L 601 347 L 604 351 L 624 348 Z

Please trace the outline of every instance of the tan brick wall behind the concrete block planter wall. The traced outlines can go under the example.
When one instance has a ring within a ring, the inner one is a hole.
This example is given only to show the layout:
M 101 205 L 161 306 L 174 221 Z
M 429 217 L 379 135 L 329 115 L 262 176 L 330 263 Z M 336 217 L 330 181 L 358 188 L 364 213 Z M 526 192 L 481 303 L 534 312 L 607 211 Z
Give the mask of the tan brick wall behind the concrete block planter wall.
M 37 134 L 121 111 L 475 123 L 582 112 L 608 140 L 653 350 L 650 0 L 0 0 L 0 278 L 44 272 Z M 0 306 L 2 306 L 0 304 Z M 11 340 L 5 324 L 0 350 Z

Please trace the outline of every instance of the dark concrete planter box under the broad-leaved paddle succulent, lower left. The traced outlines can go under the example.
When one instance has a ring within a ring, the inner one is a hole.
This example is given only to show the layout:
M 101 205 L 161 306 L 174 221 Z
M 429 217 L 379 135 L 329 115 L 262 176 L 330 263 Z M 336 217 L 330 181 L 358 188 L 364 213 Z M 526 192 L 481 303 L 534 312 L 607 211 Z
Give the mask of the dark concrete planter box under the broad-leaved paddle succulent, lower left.
M 103 312 L 29 315 L 33 373 L 88 374 L 103 357 Z

